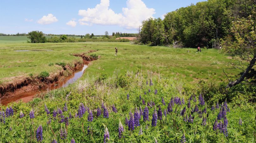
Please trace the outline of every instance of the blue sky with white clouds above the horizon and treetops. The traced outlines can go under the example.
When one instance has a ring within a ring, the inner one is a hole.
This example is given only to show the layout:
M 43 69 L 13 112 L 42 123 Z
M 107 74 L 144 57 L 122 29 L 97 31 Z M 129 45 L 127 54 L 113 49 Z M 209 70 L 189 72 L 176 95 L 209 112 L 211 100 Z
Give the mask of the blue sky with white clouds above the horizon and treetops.
M 1 0 L 0 33 L 137 33 L 142 20 L 199 1 L 203 0 Z

